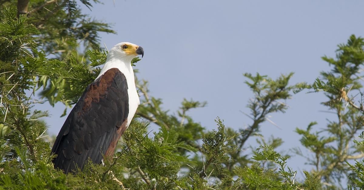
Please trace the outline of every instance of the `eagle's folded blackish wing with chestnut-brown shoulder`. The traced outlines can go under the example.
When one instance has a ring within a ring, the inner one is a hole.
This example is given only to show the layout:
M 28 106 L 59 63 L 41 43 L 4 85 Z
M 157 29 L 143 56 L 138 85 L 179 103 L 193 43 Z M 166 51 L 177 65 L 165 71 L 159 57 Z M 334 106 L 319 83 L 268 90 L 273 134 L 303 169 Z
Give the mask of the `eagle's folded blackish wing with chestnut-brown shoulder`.
M 68 115 L 52 148 L 57 154 L 54 167 L 64 173 L 81 170 L 90 158 L 101 163 L 112 156 L 118 139 L 126 130 L 129 113 L 128 85 L 117 68 L 87 86 Z

